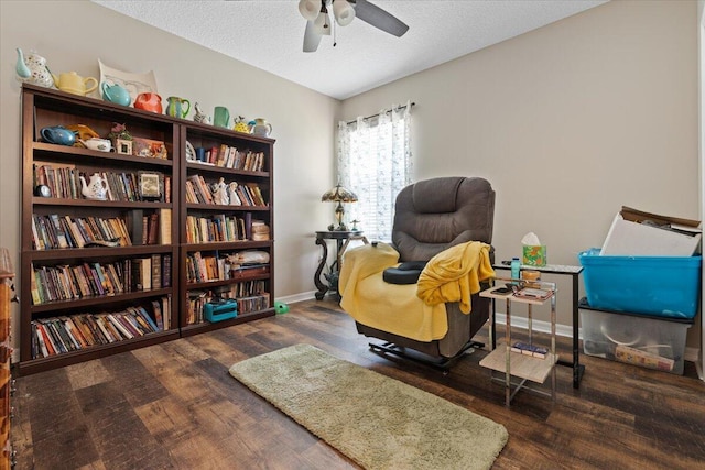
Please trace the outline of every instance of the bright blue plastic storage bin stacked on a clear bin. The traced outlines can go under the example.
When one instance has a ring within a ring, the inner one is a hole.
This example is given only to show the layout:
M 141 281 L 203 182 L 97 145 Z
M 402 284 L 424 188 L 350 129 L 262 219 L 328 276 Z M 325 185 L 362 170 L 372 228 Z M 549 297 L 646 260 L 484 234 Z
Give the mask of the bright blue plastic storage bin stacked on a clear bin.
M 703 256 L 600 256 L 578 254 L 593 308 L 671 318 L 697 313 Z

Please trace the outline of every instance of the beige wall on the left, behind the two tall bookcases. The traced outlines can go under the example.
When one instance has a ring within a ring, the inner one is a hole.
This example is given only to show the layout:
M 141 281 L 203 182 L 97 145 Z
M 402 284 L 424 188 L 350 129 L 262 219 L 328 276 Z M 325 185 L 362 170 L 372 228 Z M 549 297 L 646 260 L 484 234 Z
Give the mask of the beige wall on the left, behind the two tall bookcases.
M 188 98 L 209 114 L 224 105 L 231 114 L 267 118 L 276 139 L 275 296 L 314 291 L 321 250 L 313 233 L 332 219 L 319 198 L 334 185 L 339 101 L 87 1 L 3 0 L 0 18 L 0 245 L 12 252 L 15 269 L 21 166 L 14 48 L 21 47 L 36 50 L 54 73 L 99 77 L 100 58 L 122 70 L 154 70 L 162 97 Z

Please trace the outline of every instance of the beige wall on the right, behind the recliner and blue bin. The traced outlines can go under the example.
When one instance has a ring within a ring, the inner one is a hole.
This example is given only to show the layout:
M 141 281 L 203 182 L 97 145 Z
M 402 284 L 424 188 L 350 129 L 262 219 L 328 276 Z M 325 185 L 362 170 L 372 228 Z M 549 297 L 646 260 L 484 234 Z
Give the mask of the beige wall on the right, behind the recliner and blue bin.
M 488 178 L 499 260 L 533 231 L 550 263 L 577 264 L 622 205 L 701 217 L 696 14 L 612 1 L 347 99 L 343 118 L 415 101 L 414 179 Z

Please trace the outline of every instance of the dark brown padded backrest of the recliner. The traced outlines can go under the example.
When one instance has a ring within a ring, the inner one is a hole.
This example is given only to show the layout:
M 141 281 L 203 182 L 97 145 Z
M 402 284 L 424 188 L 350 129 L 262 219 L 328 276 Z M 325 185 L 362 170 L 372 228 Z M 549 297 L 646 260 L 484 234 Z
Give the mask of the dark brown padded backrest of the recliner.
M 467 241 L 492 242 L 495 190 L 478 177 L 440 177 L 397 196 L 392 243 L 400 261 L 427 261 Z

